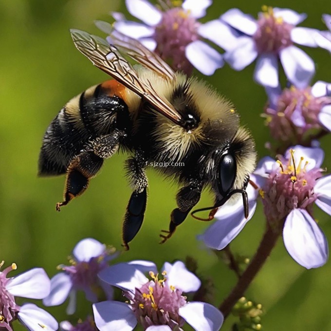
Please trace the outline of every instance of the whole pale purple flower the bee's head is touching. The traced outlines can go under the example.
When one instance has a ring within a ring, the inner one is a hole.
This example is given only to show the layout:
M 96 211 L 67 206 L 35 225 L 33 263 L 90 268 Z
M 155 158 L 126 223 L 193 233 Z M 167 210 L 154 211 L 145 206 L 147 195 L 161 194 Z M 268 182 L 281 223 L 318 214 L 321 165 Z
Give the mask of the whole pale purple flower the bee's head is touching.
M 315 203 L 331 215 L 331 175 L 322 176 L 324 152 L 321 148 L 295 146 L 275 161 L 263 158 L 251 175 L 250 215 L 245 219 L 242 203 L 221 207 L 218 219 L 202 235 L 208 247 L 223 249 L 252 218 L 260 197 L 269 225 L 281 228 L 285 247 L 296 262 L 317 268 L 328 259 L 328 242 L 313 219 Z

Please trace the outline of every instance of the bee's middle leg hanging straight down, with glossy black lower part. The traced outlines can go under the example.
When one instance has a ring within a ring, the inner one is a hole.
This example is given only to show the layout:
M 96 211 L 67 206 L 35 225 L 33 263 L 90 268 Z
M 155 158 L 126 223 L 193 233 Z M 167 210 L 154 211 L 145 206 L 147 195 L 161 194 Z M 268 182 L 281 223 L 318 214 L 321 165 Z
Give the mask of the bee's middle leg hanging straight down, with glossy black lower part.
M 128 250 L 128 243 L 138 233 L 143 221 L 147 202 L 147 176 L 145 159 L 141 152 L 137 151 L 134 158 L 126 162 L 127 176 L 133 189 L 122 227 L 123 246 Z

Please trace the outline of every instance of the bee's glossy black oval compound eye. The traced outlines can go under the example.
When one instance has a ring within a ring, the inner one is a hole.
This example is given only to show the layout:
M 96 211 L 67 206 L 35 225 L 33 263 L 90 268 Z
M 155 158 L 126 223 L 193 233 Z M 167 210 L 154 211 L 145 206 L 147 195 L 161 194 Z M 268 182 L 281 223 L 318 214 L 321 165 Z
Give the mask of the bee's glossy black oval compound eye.
M 231 154 L 224 154 L 219 166 L 219 190 L 222 195 L 227 193 L 233 186 L 237 174 L 236 159 Z

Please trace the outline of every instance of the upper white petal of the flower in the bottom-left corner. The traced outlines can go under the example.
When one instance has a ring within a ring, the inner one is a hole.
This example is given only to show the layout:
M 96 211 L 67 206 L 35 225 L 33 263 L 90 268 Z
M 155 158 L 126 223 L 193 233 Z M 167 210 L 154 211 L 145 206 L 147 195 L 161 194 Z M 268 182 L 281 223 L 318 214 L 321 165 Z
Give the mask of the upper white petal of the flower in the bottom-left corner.
M 15 296 L 42 299 L 50 293 L 51 281 L 44 269 L 34 268 L 11 278 L 6 289 Z

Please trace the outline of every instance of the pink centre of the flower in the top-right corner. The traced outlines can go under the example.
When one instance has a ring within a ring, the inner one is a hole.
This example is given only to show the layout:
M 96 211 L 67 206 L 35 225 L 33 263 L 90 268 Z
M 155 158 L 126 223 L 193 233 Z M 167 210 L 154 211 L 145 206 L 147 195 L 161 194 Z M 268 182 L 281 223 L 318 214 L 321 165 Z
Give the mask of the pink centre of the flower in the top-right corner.
M 293 44 L 291 30 L 294 26 L 280 17 L 276 18 L 272 7 L 263 6 L 262 10 L 257 21 L 257 32 L 253 36 L 257 52 L 278 54 L 280 50 Z

